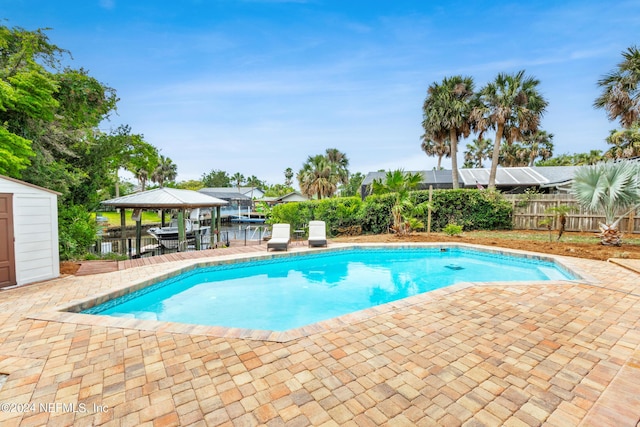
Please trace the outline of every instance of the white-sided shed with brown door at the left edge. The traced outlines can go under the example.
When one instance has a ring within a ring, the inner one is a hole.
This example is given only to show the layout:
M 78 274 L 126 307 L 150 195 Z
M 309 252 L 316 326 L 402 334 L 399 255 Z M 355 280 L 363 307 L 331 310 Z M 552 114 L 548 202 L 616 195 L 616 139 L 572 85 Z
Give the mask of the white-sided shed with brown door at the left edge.
M 0 175 L 0 288 L 60 276 L 59 195 Z

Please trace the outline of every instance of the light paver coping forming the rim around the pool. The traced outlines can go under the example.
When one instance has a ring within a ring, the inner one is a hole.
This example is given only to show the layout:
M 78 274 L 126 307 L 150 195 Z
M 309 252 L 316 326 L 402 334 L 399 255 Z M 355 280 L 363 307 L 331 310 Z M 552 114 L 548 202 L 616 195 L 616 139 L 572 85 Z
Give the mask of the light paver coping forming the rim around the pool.
M 75 323 L 91 326 L 113 327 L 134 329 L 141 331 L 154 331 L 154 332 L 167 332 L 178 334 L 190 334 L 190 335 L 204 335 L 209 337 L 219 338 L 233 338 L 233 339 L 246 339 L 256 341 L 272 341 L 272 342 L 289 342 L 299 338 L 303 338 L 315 333 L 322 333 L 335 328 L 345 327 L 354 323 L 364 321 L 371 317 L 375 317 L 381 314 L 393 312 L 402 308 L 421 305 L 426 302 L 431 302 L 446 295 L 462 291 L 467 288 L 482 286 L 544 286 L 544 285 L 575 285 L 576 283 L 595 285 L 598 286 L 598 281 L 593 277 L 589 277 L 584 272 L 576 272 L 573 268 L 563 263 L 563 260 L 554 255 L 533 253 L 527 251 L 520 251 L 514 249 L 494 248 L 482 245 L 473 245 L 467 243 L 358 243 L 358 244 L 343 244 L 332 245 L 328 248 L 313 249 L 314 253 L 329 253 L 339 250 L 351 250 L 357 248 L 440 248 L 440 249 L 473 249 L 479 250 L 485 253 L 523 257 L 527 259 L 541 260 L 554 263 L 557 267 L 569 272 L 576 279 L 570 280 L 544 280 L 544 281 L 509 281 L 509 282 L 461 282 L 454 285 L 450 285 L 441 289 L 425 292 L 422 294 L 414 295 L 407 298 L 402 298 L 396 301 L 391 301 L 378 306 L 370 307 L 364 310 L 347 313 L 338 317 L 334 317 L 328 320 L 319 321 L 313 324 L 305 325 L 300 328 L 294 328 L 287 331 L 269 331 L 259 329 L 245 329 L 245 328 L 233 328 L 222 326 L 205 326 L 186 324 L 178 322 L 167 322 L 157 320 L 143 320 L 134 318 L 120 318 L 110 316 L 100 316 L 94 314 L 84 314 L 80 311 L 91 308 L 93 306 L 102 304 L 108 300 L 130 294 L 139 289 L 151 286 L 158 281 L 162 281 L 178 274 L 191 271 L 200 267 L 208 267 L 215 265 L 232 264 L 237 262 L 257 261 L 257 260 L 269 260 L 269 259 L 281 259 L 287 257 L 300 256 L 301 254 L 308 254 L 311 252 L 268 252 L 262 254 L 250 254 L 248 256 L 231 257 L 226 259 L 212 259 L 207 260 L 193 260 L 188 265 L 177 266 L 175 269 L 164 272 L 162 274 L 149 277 L 143 280 L 139 280 L 128 285 L 120 286 L 109 292 L 94 295 L 89 298 L 84 298 L 81 301 L 73 301 L 65 305 L 57 306 L 53 308 L 53 311 L 41 312 L 30 314 L 27 317 L 36 320 L 56 321 L 63 323 Z

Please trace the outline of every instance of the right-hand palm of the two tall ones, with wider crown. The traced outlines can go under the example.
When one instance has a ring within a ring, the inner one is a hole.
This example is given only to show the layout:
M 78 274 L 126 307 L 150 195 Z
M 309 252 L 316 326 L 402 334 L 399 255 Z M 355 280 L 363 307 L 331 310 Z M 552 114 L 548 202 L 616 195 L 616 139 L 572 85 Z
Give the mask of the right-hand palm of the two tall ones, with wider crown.
M 489 128 L 496 129 L 489 188 L 496 186 L 502 138 L 510 145 L 521 140 L 524 132 L 538 130 L 548 104 L 538 91 L 539 84 L 539 80 L 526 77 L 524 70 L 516 74 L 500 73 L 479 92 L 479 105 L 473 111 L 473 122 L 481 135 Z

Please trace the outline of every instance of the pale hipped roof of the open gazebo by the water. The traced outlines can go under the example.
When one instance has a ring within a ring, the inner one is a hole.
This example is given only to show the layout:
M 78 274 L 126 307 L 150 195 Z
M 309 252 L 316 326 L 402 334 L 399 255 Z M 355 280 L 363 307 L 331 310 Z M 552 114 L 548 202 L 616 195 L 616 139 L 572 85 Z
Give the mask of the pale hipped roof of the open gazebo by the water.
M 227 202 L 192 190 L 156 188 L 105 200 L 102 204 L 123 208 L 204 208 L 226 205 Z

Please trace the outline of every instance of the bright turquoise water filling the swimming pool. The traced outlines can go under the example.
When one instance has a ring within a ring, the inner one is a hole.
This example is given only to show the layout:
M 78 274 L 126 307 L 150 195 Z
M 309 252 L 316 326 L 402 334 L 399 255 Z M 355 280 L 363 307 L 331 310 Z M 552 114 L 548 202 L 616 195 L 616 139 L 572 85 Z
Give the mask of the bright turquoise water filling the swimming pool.
M 285 331 L 459 282 L 573 278 L 462 248 L 351 249 L 199 268 L 83 313 Z

